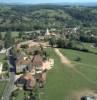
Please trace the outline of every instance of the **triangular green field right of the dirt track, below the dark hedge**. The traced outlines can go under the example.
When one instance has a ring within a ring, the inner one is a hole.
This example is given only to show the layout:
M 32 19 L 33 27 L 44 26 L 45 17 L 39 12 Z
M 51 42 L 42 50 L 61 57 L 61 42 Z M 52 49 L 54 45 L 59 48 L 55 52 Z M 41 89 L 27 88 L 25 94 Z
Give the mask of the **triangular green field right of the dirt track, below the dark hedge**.
M 84 73 L 84 75 L 93 81 L 95 85 L 97 84 L 97 55 L 66 49 L 61 49 L 60 51 L 73 61 L 75 67 L 79 71 Z M 80 57 L 81 61 L 74 61 L 76 57 Z M 94 88 L 96 88 L 95 85 Z

